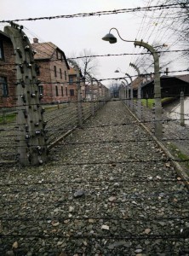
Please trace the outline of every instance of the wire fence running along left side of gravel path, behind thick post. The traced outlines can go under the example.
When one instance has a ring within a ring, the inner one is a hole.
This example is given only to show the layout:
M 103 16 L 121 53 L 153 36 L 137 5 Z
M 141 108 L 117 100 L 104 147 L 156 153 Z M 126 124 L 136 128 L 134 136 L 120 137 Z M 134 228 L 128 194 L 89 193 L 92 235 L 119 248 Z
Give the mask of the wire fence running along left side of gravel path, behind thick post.
M 58 105 L 43 105 L 43 123 L 45 126 L 46 144 L 53 147 L 61 137 L 72 131 L 94 113 L 96 113 L 107 99 L 101 98 L 94 102 L 64 102 Z M 78 115 L 81 106 L 81 115 Z M 93 112 L 94 109 L 94 112 Z M 20 131 L 17 121 L 18 110 L 16 108 L 1 108 L 0 113 L 0 159 L 2 164 L 16 162 L 18 154 L 18 131 Z M 81 120 L 82 119 L 82 120 Z

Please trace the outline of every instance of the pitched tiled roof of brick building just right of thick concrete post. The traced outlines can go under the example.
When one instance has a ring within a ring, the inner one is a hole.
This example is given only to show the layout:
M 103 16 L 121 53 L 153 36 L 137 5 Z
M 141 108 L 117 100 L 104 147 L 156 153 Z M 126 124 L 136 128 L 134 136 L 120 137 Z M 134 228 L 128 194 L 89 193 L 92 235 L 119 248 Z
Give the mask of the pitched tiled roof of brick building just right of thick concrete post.
M 55 50 L 59 50 L 66 62 L 66 66 L 68 69 L 70 69 L 68 62 L 66 60 L 66 55 L 65 53 L 58 48 L 55 44 L 51 42 L 47 43 L 37 43 L 37 44 L 31 44 L 32 48 L 37 52 L 36 55 L 34 55 L 35 60 L 50 60 L 53 55 Z

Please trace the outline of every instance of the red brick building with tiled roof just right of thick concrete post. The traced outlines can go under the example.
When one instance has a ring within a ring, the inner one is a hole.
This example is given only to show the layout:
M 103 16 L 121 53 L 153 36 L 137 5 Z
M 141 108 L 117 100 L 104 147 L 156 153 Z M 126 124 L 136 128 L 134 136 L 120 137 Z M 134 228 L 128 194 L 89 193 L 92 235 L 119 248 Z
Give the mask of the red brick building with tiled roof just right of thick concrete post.
M 37 78 L 41 80 L 40 90 L 43 93 L 41 102 L 55 103 L 69 100 L 70 69 L 65 53 L 53 43 L 38 43 L 33 39 L 32 48 L 36 51 Z

